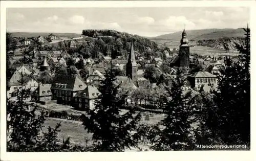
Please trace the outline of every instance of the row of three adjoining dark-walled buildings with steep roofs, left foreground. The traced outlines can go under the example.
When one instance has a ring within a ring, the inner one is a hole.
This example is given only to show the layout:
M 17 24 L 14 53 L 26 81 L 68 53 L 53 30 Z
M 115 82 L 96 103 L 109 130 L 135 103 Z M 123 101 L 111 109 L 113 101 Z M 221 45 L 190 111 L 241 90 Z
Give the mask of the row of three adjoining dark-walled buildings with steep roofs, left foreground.
M 39 84 L 31 95 L 31 100 L 47 103 L 56 100 L 58 104 L 70 105 L 76 109 L 94 108 L 100 92 L 94 85 L 87 85 L 78 76 L 58 76 L 52 84 Z

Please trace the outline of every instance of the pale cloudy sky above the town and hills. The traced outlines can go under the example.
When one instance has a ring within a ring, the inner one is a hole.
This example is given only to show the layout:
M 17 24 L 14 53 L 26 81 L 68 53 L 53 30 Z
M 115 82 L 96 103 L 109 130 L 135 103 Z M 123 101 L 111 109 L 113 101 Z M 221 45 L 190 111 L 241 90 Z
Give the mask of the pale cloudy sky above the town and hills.
M 113 29 L 141 36 L 183 30 L 241 28 L 249 22 L 243 7 L 7 8 L 8 32 L 82 33 Z

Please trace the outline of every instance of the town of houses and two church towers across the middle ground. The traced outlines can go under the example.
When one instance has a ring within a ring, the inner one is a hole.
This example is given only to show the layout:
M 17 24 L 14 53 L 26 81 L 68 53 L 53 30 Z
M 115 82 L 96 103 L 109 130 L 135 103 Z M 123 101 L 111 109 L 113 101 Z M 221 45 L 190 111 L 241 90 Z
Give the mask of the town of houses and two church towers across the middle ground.
M 23 87 L 23 89 L 30 89 L 33 102 L 47 104 L 52 100 L 57 100 L 58 104 L 71 105 L 80 110 L 93 108 L 93 100 L 100 95 L 97 86 L 104 79 L 105 71 L 110 67 L 119 72 L 116 78 L 121 83 L 121 88 L 125 90 L 136 91 L 140 88 L 154 90 L 161 84 L 159 81 L 172 81 L 176 77 L 177 67 L 182 67 L 186 71 L 184 91 L 199 91 L 202 88 L 205 92 L 209 92 L 210 89 L 216 89 L 218 82 L 216 75 L 219 74 L 219 67 L 224 65 L 224 56 L 190 54 L 185 30 L 181 35 L 180 49 L 172 49 L 170 53 L 169 49 L 164 50 L 164 56 L 162 56 L 164 59 L 159 56 L 136 55 L 133 41 L 130 42 L 131 47 L 127 58 L 123 56 L 112 58 L 113 56 L 104 56 L 102 53 L 99 53 L 101 57 L 98 58 L 83 58 L 80 55 L 73 57 L 74 55 L 70 55 L 67 50 L 40 50 L 49 43 L 63 41 L 69 44 L 70 49 L 76 50 L 77 45 L 88 43 L 83 37 L 63 39 L 50 34 L 48 37 L 38 36 L 36 40 L 33 38 L 17 39 L 19 39 L 17 49 L 9 51 L 7 55 L 10 57 L 8 62 L 11 63 L 8 64 L 11 69 L 7 98 L 15 98 L 17 90 Z M 38 45 L 38 43 L 42 47 L 32 49 L 33 45 Z M 28 61 L 17 64 L 17 58 Z M 168 64 L 173 64 L 173 66 L 169 67 Z M 189 67 L 199 65 L 200 70 L 194 70 L 195 72 L 189 70 Z M 70 68 L 73 74 L 61 75 L 58 73 L 59 67 Z M 151 75 L 150 72 L 155 73 Z M 22 75 L 26 80 L 24 84 L 20 82 Z M 158 75 L 158 78 L 154 78 L 158 79 L 158 82 L 153 80 L 153 75 Z M 49 79 L 45 81 L 40 77 Z M 160 80 L 160 77 L 163 79 Z M 82 98 L 85 99 L 79 103 L 77 100 L 82 100 Z M 135 103 L 134 98 L 130 97 L 129 100 Z

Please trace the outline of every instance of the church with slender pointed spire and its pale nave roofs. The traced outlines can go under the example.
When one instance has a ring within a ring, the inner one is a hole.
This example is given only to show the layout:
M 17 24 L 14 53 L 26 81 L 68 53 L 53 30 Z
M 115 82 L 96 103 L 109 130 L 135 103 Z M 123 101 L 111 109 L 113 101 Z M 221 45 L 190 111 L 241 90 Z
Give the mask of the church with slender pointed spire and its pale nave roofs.
M 126 91 L 151 85 L 150 80 L 137 76 L 138 64 L 136 63 L 133 46 L 134 42 L 132 41 L 129 58 L 126 63 L 126 76 L 116 76 L 116 83 L 120 84 L 121 88 Z

